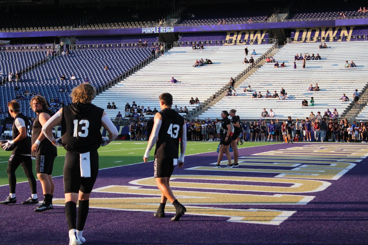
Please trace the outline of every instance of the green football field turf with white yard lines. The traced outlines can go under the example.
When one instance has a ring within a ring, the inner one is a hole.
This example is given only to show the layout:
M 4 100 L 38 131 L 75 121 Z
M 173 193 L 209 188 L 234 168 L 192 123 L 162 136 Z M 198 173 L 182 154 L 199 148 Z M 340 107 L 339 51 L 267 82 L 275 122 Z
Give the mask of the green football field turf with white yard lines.
M 219 142 L 204 141 L 188 141 L 187 151 L 185 155 L 216 151 Z M 271 142 L 245 142 L 238 148 L 252 147 L 258 145 L 275 144 Z M 99 152 L 99 168 L 122 166 L 143 161 L 143 155 L 146 151 L 147 141 L 113 141 L 105 147 L 100 147 Z M 57 158 L 54 161 L 53 176 L 63 175 L 64 156 L 66 150 L 63 147 L 57 148 Z M 153 160 L 154 149 L 151 151 L 149 160 Z M 0 185 L 8 184 L 8 175 L 6 173 L 7 162 L 11 151 L 0 151 Z M 16 171 L 17 182 L 26 181 L 22 167 L 18 167 Z M 36 177 L 35 161 L 33 160 L 33 174 Z M 36 177 L 37 179 L 37 177 Z

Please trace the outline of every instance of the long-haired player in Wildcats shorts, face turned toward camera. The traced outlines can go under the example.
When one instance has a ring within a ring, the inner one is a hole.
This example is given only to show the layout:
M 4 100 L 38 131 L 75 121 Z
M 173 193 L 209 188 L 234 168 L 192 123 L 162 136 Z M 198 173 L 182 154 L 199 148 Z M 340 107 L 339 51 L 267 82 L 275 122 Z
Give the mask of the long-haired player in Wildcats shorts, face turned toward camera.
M 45 97 L 36 95 L 31 99 L 30 104 L 37 114 L 32 127 L 31 155 L 36 158 L 36 173 L 41 182 L 44 197 L 42 205 L 36 208 L 35 212 L 43 212 L 53 209 L 54 181 L 52 180 L 52 169 L 57 156 L 57 149 L 42 133 L 42 126 L 52 116 L 52 112 L 47 109 Z

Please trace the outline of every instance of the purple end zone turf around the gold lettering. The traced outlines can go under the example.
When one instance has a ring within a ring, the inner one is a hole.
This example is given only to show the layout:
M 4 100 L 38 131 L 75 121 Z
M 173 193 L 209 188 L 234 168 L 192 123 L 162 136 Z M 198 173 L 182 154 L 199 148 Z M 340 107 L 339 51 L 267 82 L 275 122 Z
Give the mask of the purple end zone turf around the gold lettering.
M 250 156 L 301 145 L 307 144 L 276 144 L 243 148 L 239 150 L 239 155 Z M 323 144 L 323 146 L 327 145 Z M 344 145 L 354 145 L 357 148 L 366 147 L 365 144 Z M 333 153 L 326 155 L 333 157 Z M 173 174 L 250 177 L 275 177 L 277 175 L 277 173 L 187 169 L 196 166 L 214 166 L 209 163 L 216 161 L 217 152 L 186 156 L 185 167 L 175 169 Z M 171 222 L 172 213 L 167 213 L 164 219 L 157 219 L 153 217 L 152 212 L 92 208 L 89 210 L 83 234 L 88 244 L 368 244 L 368 171 L 366 166 L 368 161 L 364 158 L 356 164 L 338 180 L 323 180 L 331 183 L 326 190 L 306 194 L 296 193 L 296 195 L 315 196 L 306 205 L 220 206 L 234 209 L 296 211 L 279 225 L 229 222 L 227 217 L 187 214 L 179 222 Z M 242 167 L 246 166 L 238 168 Z M 272 167 L 265 168 L 272 169 Z M 131 185 L 129 182 L 132 180 L 152 176 L 152 162 L 100 170 L 95 189 L 108 185 Z M 62 177 L 54 178 L 54 182 L 54 198 L 63 198 Z M 42 200 L 39 181 L 37 184 L 39 199 Z M 175 194 L 175 190 L 183 190 L 183 188 L 173 188 L 173 190 Z M 0 187 L 1 198 L 6 198 L 8 192 L 8 186 Z M 53 210 L 35 213 L 33 212 L 35 205 L 20 204 L 29 197 L 29 193 L 28 183 L 17 184 L 17 204 L 0 206 L 0 244 L 68 244 L 64 207 L 54 206 Z M 262 192 L 246 192 L 246 194 L 262 194 Z M 91 198 L 117 197 L 142 196 L 106 192 L 92 192 L 91 194 Z M 180 201 L 180 198 L 178 200 Z M 157 198 L 157 206 L 159 202 Z M 190 208 L 187 209 L 190 212 Z

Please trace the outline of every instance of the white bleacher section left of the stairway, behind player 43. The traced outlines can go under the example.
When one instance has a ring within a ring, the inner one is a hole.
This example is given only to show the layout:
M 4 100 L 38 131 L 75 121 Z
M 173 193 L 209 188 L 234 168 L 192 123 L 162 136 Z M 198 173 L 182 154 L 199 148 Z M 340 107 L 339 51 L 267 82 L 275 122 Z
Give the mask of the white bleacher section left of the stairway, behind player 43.
M 255 49 L 257 60 L 269 50 L 272 44 L 249 45 L 248 60 Z M 93 104 L 105 108 L 107 102 L 115 102 L 117 109 L 107 110 L 110 118 L 115 118 L 118 111 L 124 116 L 126 102 L 144 105 L 145 108 L 157 108 L 160 111 L 158 97 L 168 92 L 173 95 L 173 107 L 187 106 L 192 110 L 198 105 L 189 105 L 191 97 L 198 97 L 200 102 L 212 97 L 216 91 L 229 83 L 230 77 L 236 77 L 249 64 L 243 64 L 245 46 L 212 46 L 204 50 L 192 50 L 191 47 L 175 47 L 167 51 L 138 72 L 116 84 L 109 90 L 100 93 L 93 100 Z M 209 59 L 212 65 L 194 68 L 195 60 Z M 171 84 L 167 81 L 174 77 L 181 83 Z

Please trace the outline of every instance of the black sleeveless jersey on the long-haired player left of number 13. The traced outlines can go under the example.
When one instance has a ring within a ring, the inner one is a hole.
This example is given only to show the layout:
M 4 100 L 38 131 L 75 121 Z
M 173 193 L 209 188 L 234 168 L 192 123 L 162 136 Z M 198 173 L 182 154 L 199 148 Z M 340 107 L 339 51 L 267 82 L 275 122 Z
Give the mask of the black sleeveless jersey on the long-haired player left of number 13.
M 33 122 L 33 127 L 32 127 L 32 145 L 36 142 L 38 136 L 40 136 L 41 134 L 42 125 L 38 119 L 38 116 L 43 112 L 52 116 L 52 112 L 49 111 L 48 109 L 42 110 L 37 114 L 37 117 L 35 121 Z M 57 149 L 56 149 L 56 146 L 54 146 L 50 140 L 48 140 L 47 138 L 44 138 L 41 141 L 40 145 L 38 146 L 37 151 L 36 152 L 32 151 L 31 155 L 33 157 L 37 155 L 57 155 Z

